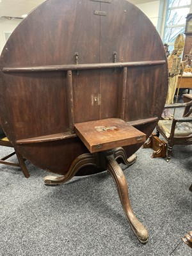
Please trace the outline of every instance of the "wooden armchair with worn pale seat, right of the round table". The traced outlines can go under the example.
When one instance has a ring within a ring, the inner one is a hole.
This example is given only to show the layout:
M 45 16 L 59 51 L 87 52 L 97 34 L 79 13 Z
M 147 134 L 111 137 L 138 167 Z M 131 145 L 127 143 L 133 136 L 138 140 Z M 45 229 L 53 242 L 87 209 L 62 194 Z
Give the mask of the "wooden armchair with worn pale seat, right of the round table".
M 159 120 L 157 124 L 157 136 L 161 133 L 168 141 L 167 159 L 169 162 L 172 157 L 173 145 L 190 145 L 192 144 L 192 100 L 184 104 L 166 105 L 165 108 L 182 108 L 186 107 L 185 115 L 182 118 L 173 118 L 173 120 Z

